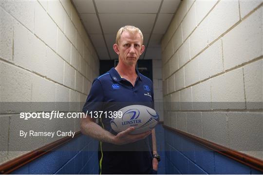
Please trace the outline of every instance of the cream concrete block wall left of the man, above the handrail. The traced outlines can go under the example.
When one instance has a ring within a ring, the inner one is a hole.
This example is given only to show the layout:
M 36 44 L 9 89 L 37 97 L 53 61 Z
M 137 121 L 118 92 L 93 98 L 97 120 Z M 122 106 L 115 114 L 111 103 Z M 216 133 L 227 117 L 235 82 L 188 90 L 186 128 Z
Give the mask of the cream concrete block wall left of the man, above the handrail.
M 19 102 L 10 104 L 22 112 L 79 111 L 99 74 L 99 60 L 71 1 L 5 0 L 0 18 L 0 101 Z M 31 102 L 50 103 L 40 109 Z M 28 145 L 38 148 L 58 139 L 22 141 L 21 128 L 80 130 L 78 119 L 22 120 L 12 110 L 1 109 L 0 163 L 30 151 L 23 149 Z M 26 151 L 15 151 L 16 146 Z

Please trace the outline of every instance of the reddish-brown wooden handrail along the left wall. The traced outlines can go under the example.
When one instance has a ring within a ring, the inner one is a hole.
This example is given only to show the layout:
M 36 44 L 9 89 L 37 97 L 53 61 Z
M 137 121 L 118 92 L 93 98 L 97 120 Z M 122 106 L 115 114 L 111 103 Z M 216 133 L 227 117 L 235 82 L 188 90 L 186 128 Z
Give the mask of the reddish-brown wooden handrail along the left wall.
M 74 138 L 76 138 L 77 136 L 80 136 L 80 135 L 81 135 L 81 132 L 78 131 L 75 133 L 75 136 L 73 138 L 71 136 L 63 137 L 63 138 L 58 139 L 52 143 L 49 143 L 45 146 L 42 146 L 42 147 L 40 147 L 34 151 L 31 151 L 31 152 L 26 153 L 22 156 L 19 156 L 17 158 L 9 160 L 6 163 L 3 163 L 2 165 L 0 165 L 0 173 L 1 174 L 10 174 L 11 172 L 17 170 L 19 167 L 21 167 L 21 166 L 23 166 L 29 162 L 32 162 L 36 158 L 51 152 L 52 150 L 56 149 L 57 147 L 62 146 L 66 142 L 73 140 Z

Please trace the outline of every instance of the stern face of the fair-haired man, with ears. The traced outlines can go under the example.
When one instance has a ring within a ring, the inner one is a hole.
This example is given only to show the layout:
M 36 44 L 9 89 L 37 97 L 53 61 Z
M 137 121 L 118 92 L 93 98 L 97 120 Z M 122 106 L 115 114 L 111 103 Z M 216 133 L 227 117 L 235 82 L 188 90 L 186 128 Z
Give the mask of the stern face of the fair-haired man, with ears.
M 140 34 L 132 34 L 128 31 L 124 31 L 121 34 L 118 45 L 114 44 L 113 48 L 121 61 L 126 65 L 135 65 L 144 51 Z

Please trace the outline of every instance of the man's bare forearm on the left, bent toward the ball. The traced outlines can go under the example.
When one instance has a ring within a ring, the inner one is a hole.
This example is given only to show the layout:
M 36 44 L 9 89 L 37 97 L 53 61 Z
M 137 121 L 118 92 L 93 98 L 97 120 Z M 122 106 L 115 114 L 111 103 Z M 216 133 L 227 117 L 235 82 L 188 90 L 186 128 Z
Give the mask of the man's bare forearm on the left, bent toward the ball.
M 90 122 L 81 123 L 81 132 L 84 135 L 91 136 L 96 140 L 113 143 L 114 135 L 101 128 L 95 122 L 90 121 Z

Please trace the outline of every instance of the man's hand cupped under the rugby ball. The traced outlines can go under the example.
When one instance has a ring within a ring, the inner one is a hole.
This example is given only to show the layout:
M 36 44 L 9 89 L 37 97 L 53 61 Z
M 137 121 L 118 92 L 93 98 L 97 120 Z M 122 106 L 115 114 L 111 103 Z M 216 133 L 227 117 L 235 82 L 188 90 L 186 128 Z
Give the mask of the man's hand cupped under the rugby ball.
M 135 141 L 146 138 L 151 133 L 151 131 L 148 131 L 148 132 L 141 133 L 141 134 L 131 135 L 130 133 L 132 131 L 134 131 L 134 127 L 130 127 L 127 130 L 118 133 L 113 138 L 113 144 L 123 145 L 123 144 L 131 143 L 131 142 L 135 142 Z

